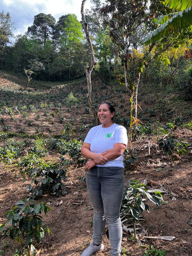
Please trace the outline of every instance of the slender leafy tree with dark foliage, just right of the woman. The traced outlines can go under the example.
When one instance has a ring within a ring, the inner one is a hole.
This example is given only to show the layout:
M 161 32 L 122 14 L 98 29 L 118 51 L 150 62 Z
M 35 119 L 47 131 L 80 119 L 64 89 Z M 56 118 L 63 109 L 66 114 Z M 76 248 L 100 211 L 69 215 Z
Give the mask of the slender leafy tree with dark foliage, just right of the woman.
M 121 77 L 121 82 L 125 85 L 127 91 L 131 95 L 131 123 L 130 123 L 130 141 L 131 131 L 133 124 L 138 123 L 137 118 L 137 94 L 138 85 L 140 81 L 140 75 L 145 67 L 145 61 L 154 47 L 150 45 L 148 51 L 142 56 L 142 58 L 133 58 L 132 43 L 133 35 L 137 29 L 146 23 L 149 13 L 147 0 L 108 0 L 107 5 L 103 6 L 101 13 L 105 19 L 104 25 L 109 27 L 109 35 L 117 47 L 116 54 L 122 59 L 124 66 L 124 75 Z M 132 61 L 134 63 L 134 76 L 130 76 L 128 73 L 127 63 Z M 135 110 L 135 117 L 132 113 Z

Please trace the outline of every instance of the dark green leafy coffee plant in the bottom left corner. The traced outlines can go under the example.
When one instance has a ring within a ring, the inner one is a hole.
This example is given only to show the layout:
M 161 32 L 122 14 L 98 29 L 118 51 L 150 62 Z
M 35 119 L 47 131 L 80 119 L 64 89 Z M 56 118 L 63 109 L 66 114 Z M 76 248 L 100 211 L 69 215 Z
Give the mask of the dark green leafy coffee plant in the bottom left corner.
M 34 242 L 40 243 L 45 235 L 49 233 L 49 227 L 42 221 L 41 213 L 50 211 L 50 207 L 44 202 L 37 204 L 30 197 L 15 204 L 12 210 L 5 213 L 7 222 L 0 226 L 2 235 L 10 236 L 13 241 L 21 244 L 20 251 L 27 247 L 28 254 L 35 256 Z

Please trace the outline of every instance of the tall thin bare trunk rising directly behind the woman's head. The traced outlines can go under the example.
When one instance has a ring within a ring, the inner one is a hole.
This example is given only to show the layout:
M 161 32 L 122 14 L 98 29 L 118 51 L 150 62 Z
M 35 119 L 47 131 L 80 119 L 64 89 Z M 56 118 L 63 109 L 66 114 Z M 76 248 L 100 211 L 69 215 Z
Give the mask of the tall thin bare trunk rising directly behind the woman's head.
M 94 118 L 95 118 L 95 125 L 98 125 L 99 124 L 99 119 L 98 119 L 97 113 L 96 113 L 96 111 L 93 107 L 93 103 L 91 101 L 91 90 L 92 90 L 92 87 L 91 87 L 91 72 L 92 72 L 94 66 L 97 63 L 95 62 L 95 59 L 94 59 L 93 45 L 92 45 L 92 42 L 91 42 L 91 39 L 90 39 L 89 30 L 88 30 L 88 26 L 87 26 L 87 22 L 86 22 L 86 19 L 85 19 L 85 14 L 84 14 L 85 2 L 86 2 L 86 0 L 82 1 L 81 14 L 82 14 L 82 22 L 83 22 L 83 27 L 84 27 L 84 30 L 85 30 L 87 43 L 89 45 L 90 53 L 91 53 L 91 65 L 86 67 L 86 79 L 87 79 L 87 94 L 86 94 L 86 97 L 87 97 L 87 102 L 89 104 L 89 107 L 90 107 L 90 109 L 91 109 L 91 111 L 94 115 Z

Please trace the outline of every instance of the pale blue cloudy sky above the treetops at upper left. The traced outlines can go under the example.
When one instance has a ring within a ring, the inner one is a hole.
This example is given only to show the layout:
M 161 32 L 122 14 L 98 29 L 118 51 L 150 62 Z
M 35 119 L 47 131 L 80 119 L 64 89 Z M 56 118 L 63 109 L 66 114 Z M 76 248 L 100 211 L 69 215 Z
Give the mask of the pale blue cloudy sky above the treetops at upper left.
M 17 30 L 14 35 L 24 35 L 27 28 L 33 25 L 34 16 L 39 13 L 51 14 L 56 21 L 65 14 L 73 13 L 81 21 L 82 0 L 0 0 L 0 12 L 10 13 L 11 21 Z M 85 2 L 85 9 L 91 6 Z

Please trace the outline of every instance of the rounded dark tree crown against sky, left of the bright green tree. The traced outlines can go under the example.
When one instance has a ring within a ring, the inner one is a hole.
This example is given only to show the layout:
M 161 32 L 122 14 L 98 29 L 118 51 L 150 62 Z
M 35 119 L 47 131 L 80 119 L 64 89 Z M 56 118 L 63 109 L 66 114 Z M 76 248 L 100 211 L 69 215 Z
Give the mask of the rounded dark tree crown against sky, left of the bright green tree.
M 38 39 L 39 44 L 44 48 L 46 41 L 52 38 L 55 22 L 51 14 L 39 13 L 35 15 L 33 25 L 28 27 L 27 34 Z

